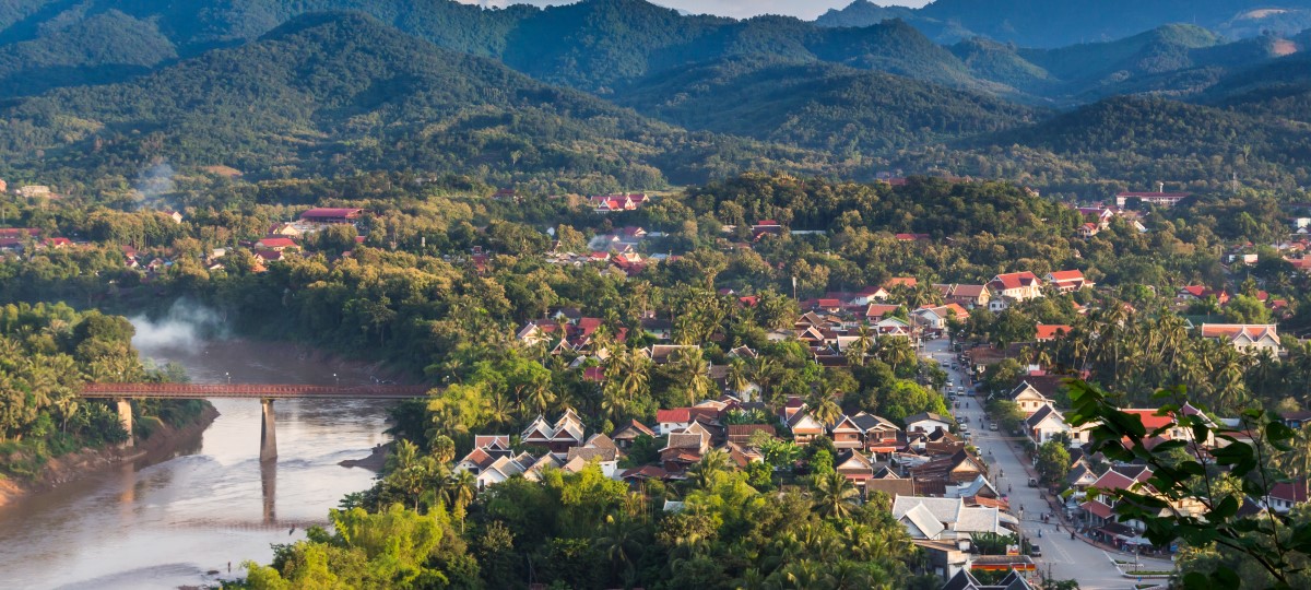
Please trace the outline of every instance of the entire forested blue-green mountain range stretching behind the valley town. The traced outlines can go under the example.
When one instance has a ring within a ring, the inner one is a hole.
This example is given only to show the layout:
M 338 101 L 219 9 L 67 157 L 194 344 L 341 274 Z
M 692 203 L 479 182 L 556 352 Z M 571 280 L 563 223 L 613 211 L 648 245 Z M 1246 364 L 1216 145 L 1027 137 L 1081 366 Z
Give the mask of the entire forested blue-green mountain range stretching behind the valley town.
M 943 45 L 916 18 L 949 5 L 970 4 L 857 28 L 641 0 L 16 0 L 0 7 L 0 173 L 130 176 L 164 157 L 573 190 L 743 169 L 1307 184 L 1308 33 Z

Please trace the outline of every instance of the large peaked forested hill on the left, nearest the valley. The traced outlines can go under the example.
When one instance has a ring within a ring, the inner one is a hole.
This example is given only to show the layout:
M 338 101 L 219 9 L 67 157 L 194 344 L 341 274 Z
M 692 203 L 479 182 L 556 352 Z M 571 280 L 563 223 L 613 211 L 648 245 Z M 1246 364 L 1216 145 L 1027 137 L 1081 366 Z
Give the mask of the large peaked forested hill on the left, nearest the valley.
M 257 177 L 413 169 L 551 178 L 574 190 L 826 164 L 657 123 L 361 14 L 300 17 L 258 42 L 130 83 L 66 88 L 0 110 L 5 173 L 131 178 L 160 157 Z

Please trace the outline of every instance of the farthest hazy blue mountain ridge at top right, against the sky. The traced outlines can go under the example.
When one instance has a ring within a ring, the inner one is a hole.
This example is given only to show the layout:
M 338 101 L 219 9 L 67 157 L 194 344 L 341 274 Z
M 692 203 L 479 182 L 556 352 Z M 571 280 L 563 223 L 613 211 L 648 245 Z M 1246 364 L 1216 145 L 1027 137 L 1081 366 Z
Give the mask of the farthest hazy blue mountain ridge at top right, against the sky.
M 869 26 L 886 18 L 905 20 L 941 43 L 986 37 L 1028 47 L 1061 47 L 1118 39 L 1172 22 L 1190 22 L 1230 38 L 1257 37 L 1262 31 L 1291 34 L 1311 28 L 1311 1 L 936 0 L 911 9 L 855 0 L 815 22 Z

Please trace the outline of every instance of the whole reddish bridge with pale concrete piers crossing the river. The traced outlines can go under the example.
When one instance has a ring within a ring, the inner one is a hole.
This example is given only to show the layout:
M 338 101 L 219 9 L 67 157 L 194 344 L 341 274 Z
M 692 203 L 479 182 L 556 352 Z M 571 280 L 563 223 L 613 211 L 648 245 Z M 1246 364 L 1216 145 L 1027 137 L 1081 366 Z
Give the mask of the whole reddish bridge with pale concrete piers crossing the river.
M 206 400 L 214 397 L 257 399 L 262 406 L 260 460 L 278 458 L 277 421 L 273 400 L 408 400 L 426 397 L 426 385 L 291 385 L 291 384 L 190 384 L 190 383 L 88 383 L 81 396 L 110 400 L 118 405 L 118 420 L 128 433 L 131 444 L 132 403 L 140 399 Z

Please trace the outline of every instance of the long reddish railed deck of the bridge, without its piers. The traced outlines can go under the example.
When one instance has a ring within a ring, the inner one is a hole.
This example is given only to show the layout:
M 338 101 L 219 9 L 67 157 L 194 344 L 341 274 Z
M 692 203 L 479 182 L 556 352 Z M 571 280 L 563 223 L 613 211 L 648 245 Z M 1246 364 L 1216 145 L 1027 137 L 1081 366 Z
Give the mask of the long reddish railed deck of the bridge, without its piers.
M 161 399 L 208 399 L 208 397 L 249 397 L 249 399 L 376 399 L 405 400 L 426 397 L 427 385 L 288 385 L 288 384 L 205 384 L 190 383 L 88 383 L 83 387 L 83 397 L 161 397 Z

